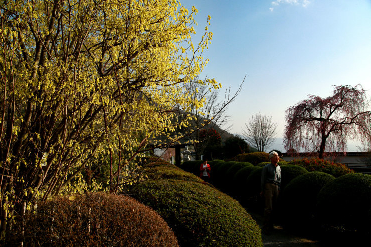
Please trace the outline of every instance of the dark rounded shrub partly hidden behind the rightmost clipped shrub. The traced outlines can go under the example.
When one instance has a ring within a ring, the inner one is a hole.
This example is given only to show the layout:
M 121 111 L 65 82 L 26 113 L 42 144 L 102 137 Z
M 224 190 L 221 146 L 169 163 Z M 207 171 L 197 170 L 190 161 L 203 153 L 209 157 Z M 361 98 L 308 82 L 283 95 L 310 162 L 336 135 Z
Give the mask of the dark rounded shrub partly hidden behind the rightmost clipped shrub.
M 282 193 L 282 222 L 291 230 L 313 232 L 314 213 L 319 191 L 334 176 L 324 172 L 308 172 L 289 182 Z

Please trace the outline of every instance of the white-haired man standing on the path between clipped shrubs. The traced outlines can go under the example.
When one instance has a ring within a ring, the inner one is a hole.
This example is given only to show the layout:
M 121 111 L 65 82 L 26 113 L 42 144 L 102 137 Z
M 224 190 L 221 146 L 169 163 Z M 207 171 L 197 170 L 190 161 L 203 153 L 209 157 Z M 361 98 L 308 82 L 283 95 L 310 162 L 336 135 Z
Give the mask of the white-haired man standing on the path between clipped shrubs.
M 281 185 L 281 168 L 277 165 L 280 156 L 273 151 L 269 154 L 269 159 L 271 163 L 264 166 L 260 180 L 260 196 L 264 196 L 265 201 L 262 233 L 266 235 L 271 234 L 273 230 L 273 204 L 278 197 Z

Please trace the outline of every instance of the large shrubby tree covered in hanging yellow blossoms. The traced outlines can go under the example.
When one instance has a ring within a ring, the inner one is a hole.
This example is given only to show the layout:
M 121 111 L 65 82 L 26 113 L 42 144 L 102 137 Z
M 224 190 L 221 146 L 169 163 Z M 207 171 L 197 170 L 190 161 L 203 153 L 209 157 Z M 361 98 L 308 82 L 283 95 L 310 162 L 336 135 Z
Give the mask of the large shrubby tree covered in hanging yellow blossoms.
M 183 87 L 207 64 L 202 51 L 212 37 L 208 17 L 192 42 L 196 13 L 176 0 L 2 4 L 2 229 L 7 216 L 57 194 L 93 159 L 110 164 L 117 191 L 136 176 L 135 157 L 148 143 L 188 125 L 175 111 L 203 104 Z

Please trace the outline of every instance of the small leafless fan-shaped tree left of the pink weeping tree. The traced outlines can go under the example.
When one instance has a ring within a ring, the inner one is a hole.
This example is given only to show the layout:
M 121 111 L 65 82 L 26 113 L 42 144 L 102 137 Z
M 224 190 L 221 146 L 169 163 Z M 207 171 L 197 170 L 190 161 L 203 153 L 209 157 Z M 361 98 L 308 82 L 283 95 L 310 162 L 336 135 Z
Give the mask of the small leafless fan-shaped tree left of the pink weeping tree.
M 245 123 L 245 129 L 242 129 L 242 135 L 259 152 L 264 152 L 272 145 L 276 136 L 277 123 L 272 123 L 271 116 L 255 114 L 249 122 Z

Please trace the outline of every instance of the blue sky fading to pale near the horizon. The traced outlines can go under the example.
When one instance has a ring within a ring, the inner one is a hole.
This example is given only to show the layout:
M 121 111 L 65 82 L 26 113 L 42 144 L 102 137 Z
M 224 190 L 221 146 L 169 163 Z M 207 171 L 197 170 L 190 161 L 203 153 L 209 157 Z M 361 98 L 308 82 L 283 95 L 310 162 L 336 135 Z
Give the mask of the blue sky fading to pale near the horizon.
M 204 53 L 210 62 L 201 78 L 215 78 L 224 89 L 235 91 L 246 75 L 228 110 L 232 133 L 241 133 L 249 117 L 260 112 L 278 123 L 280 138 L 285 110 L 309 94 L 332 95 L 333 85 L 361 84 L 371 95 L 371 0 L 181 4 L 199 11 L 194 42 L 211 16 L 213 39 Z M 357 151 L 354 145 L 348 148 Z

